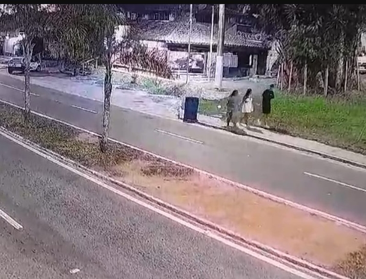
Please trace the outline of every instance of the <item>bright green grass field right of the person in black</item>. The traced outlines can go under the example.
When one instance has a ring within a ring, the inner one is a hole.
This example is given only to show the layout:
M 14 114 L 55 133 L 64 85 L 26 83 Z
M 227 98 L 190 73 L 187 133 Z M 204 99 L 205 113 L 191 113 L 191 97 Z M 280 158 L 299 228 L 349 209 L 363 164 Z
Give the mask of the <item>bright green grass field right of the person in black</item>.
M 276 94 L 275 130 L 366 154 L 366 98 L 325 99 Z

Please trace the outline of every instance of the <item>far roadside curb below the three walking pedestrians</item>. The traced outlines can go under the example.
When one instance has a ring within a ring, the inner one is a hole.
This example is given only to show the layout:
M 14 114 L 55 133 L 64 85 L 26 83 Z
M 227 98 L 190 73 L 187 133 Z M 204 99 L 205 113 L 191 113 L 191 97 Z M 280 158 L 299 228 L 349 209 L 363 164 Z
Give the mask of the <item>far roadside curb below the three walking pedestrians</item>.
M 218 126 L 203 123 L 203 122 L 197 122 L 197 124 L 201 125 L 203 127 L 208 127 L 208 128 L 212 128 L 212 129 L 216 129 L 216 130 L 228 131 L 227 129 L 224 129 L 222 127 L 218 127 Z M 330 155 L 330 154 L 326 154 L 326 153 L 323 153 L 323 152 L 320 152 L 320 151 L 306 149 L 306 148 L 299 147 L 299 146 L 296 146 L 296 145 L 291 145 L 291 144 L 287 144 L 287 143 L 284 143 L 284 142 L 275 141 L 275 140 L 271 140 L 271 139 L 268 139 L 268 138 L 247 134 L 247 133 L 236 133 L 235 131 L 228 131 L 228 132 L 231 132 L 231 133 L 234 133 L 234 134 L 237 134 L 237 135 L 245 135 L 245 136 L 255 138 L 255 139 L 258 139 L 258 140 L 262 140 L 262 141 L 266 141 L 266 142 L 269 142 L 269 143 L 281 145 L 281 146 L 284 146 L 284 147 L 287 147 L 287 148 L 290 148 L 290 149 L 295 149 L 295 150 L 299 150 L 299 151 L 302 151 L 302 152 L 315 154 L 315 155 L 321 156 L 323 158 L 330 159 L 330 160 L 337 161 L 337 162 L 341 162 L 341 163 L 348 164 L 348 165 L 352 165 L 354 167 L 366 169 L 365 164 L 358 163 L 358 162 L 355 162 L 355 161 L 351 161 L 351 160 L 348 160 L 348 159 L 344 159 L 344 158 L 341 158 L 341 157 L 338 157 L 338 156 L 333 156 L 333 155 Z

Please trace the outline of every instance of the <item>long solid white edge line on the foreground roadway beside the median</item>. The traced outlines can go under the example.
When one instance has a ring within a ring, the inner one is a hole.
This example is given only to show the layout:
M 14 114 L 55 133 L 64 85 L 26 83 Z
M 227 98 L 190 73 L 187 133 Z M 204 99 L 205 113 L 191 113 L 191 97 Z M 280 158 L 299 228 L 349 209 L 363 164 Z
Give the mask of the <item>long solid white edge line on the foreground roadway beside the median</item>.
M 146 202 L 144 202 L 142 200 L 139 200 L 139 199 L 137 199 L 137 198 L 135 198 L 135 197 L 127 194 L 127 193 L 123 193 L 122 191 L 120 191 L 120 190 L 118 190 L 118 189 L 116 189 L 116 188 L 114 188 L 112 186 L 109 186 L 108 184 L 100 181 L 99 179 L 97 179 L 97 178 L 95 178 L 95 177 L 93 177 L 91 175 L 88 175 L 86 173 L 80 172 L 77 169 L 74 169 L 74 168 L 72 168 L 72 167 L 70 167 L 70 166 L 68 166 L 68 165 L 66 165 L 66 164 L 58 161 L 57 159 L 53 158 L 52 156 L 50 156 L 48 154 L 45 154 L 45 153 L 43 153 L 43 152 L 41 152 L 39 150 L 34 149 L 31 146 L 28 146 L 27 144 L 22 143 L 21 141 L 15 139 L 13 137 L 11 137 L 10 135 L 7 135 L 6 133 L 4 133 L 2 131 L 0 131 L 0 135 L 2 135 L 5 138 L 7 138 L 7 139 L 9 139 L 9 140 L 11 140 L 11 141 L 19 144 L 23 148 L 25 148 L 27 150 L 30 150 L 30 151 L 32 151 L 34 153 L 36 153 L 37 155 L 39 155 L 39 156 L 47 159 L 48 161 L 55 163 L 56 165 L 58 165 L 58 166 L 60 166 L 60 167 L 62 167 L 64 169 L 66 169 L 66 170 L 68 170 L 70 172 L 73 172 L 75 174 L 80 175 L 81 177 L 83 177 L 83 178 L 85 178 L 85 179 L 87 179 L 87 180 L 95 183 L 96 185 L 98 185 L 98 186 L 100 186 L 100 187 L 102 187 L 102 188 L 104 188 L 106 190 L 109 190 L 109 191 L 111 191 L 113 193 L 116 193 L 116 194 L 122 196 L 123 198 L 128 199 L 131 202 L 134 202 L 134 203 L 136 203 L 136 204 L 138 204 L 138 205 L 140 205 L 140 206 L 142 206 L 142 207 L 144 207 L 144 208 L 146 208 L 148 210 L 151 210 L 151 211 L 153 211 L 153 212 L 155 212 L 157 214 L 160 214 L 160 215 L 162 215 L 162 216 L 164 216 L 164 217 L 172 220 L 173 222 L 179 223 L 179 224 L 181 224 L 181 225 L 183 225 L 183 226 L 185 226 L 185 227 L 187 227 L 187 228 L 189 228 L 189 229 L 191 229 L 191 230 L 193 230 L 193 231 L 195 231 L 197 233 L 200 233 L 202 235 L 205 235 L 207 237 L 210 237 L 212 239 L 215 239 L 215 240 L 217 240 L 217 241 L 219 241 L 219 242 L 221 242 L 221 243 L 223 243 L 223 244 L 225 244 L 225 245 L 227 245 L 227 246 L 229 246 L 229 247 L 231 247 L 233 249 L 239 250 L 239 251 L 243 252 L 244 254 L 247 254 L 247 255 L 249 255 L 249 256 L 251 256 L 253 258 L 257 258 L 259 260 L 262 260 L 262 261 L 264 261 L 264 262 L 266 262 L 268 264 L 271 264 L 271 265 L 273 265 L 273 266 L 275 266 L 277 268 L 280 268 L 280 269 L 282 269 L 282 270 L 284 270 L 284 271 L 286 271 L 288 273 L 291 273 L 291 274 L 293 274 L 295 276 L 301 277 L 303 279 L 316 279 L 315 277 L 310 276 L 310 275 L 306 274 L 305 272 L 302 272 L 300 270 L 296 270 L 296 269 L 294 269 L 292 267 L 289 267 L 289 266 L 287 266 L 287 265 L 285 265 L 285 264 L 283 264 L 281 262 L 278 262 L 278 261 L 276 261 L 276 260 L 274 260 L 272 258 L 265 257 L 264 255 L 261 255 L 261 254 L 255 252 L 255 251 L 252 251 L 252 250 L 250 250 L 248 248 L 245 248 L 245 247 L 243 247 L 243 246 L 241 246 L 241 245 L 239 245 L 239 244 L 237 244 L 237 243 L 235 243 L 233 241 L 230 241 L 230 240 L 228 240 L 228 239 L 226 239 L 226 238 L 224 238 L 224 237 L 222 237 L 220 235 L 217 235 L 215 233 L 207 234 L 207 230 L 202 229 L 202 228 L 200 228 L 200 227 L 198 227 L 198 226 L 196 226 L 196 225 L 194 225 L 192 223 L 189 223 L 189 222 L 187 222 L 187 221 L 185 221 L 185 220 L 183 220 L 183 219 L 181 219 L 181 218 L 179 218 L 179 217 L 177 217 L 175 215 L 172 215 L 172 214 L 170 214 L 168 212 L 165 212 L 165 211 L 163 211 L 163 210 L 161 210 L 159 208 L 156 208 L 153 205 L 151 205 L 149 203 L 146 203 Z

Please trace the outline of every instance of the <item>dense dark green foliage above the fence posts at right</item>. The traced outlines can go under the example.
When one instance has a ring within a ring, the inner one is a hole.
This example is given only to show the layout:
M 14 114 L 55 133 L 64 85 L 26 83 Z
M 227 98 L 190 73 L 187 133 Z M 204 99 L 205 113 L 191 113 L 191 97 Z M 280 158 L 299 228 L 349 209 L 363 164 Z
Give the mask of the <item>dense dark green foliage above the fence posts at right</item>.
M 365 4 L 251 4 L 257 28 L 279 42 L 281 62 L 293 61 L 297 72 L 304 64 L 314 76 L 328 66 L 329 86 L 340 91 L 354 73 L 361 32 L 366 27 Z M 299 76 L 299 75 L 298 75 Z M 316 87 L 311 81 L 310 86 Z M 349 83 L 348 83 L 349 84 Z

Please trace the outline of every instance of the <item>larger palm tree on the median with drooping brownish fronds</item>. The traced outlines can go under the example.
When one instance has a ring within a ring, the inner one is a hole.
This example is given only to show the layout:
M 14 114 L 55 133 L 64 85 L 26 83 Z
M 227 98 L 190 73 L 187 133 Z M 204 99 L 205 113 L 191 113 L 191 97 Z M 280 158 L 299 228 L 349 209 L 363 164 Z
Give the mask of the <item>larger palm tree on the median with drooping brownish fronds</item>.
M 105 67 L 102 137 L 100 149 L 107 150 L 112 94 L 112 66 L 117 58 L 125 64 L 142 66 L 159 76 L 170 77 L 166 59 L 135 40 L 135 32 L 126 32 L 123 15 L 114 4 L 55 4 L 53 19 L 58 24 L 49 33 L 55 55 L 66 58 L 100 58 Z M 116 32 L 119 27 L 120 32 Z M 121 36 L 121 31 L 122 36 Z M 124 32 L 123 32 L 124 31 Z M 121 54 L 121 55 L 120 55 Z

